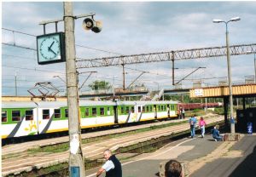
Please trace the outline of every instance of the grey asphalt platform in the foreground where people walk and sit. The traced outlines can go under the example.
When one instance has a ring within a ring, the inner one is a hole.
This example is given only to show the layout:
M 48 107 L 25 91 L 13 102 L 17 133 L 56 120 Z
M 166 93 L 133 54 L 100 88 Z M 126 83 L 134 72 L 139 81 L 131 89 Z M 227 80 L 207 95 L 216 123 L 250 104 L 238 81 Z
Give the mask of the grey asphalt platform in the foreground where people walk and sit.
M 153 153 L 122 161 L 123 177 L 159 176 L 160 163 L 170 159 L 188 162 L 190 177 L 254 176 L 256 134 L 241 134 L 239 141 L 216 142 L 211 134 L 177 140 Z M 86 176 L 95 176 L 96 170 L 87 171 Z

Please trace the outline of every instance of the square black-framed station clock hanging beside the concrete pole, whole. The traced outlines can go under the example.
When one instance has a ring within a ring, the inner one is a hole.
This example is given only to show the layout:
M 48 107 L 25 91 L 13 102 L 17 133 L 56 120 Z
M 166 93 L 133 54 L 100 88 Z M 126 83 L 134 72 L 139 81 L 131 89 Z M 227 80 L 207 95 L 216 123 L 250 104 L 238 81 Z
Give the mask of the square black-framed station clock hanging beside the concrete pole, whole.
M 37 47 L 39 65 L 66 61 L 64 32 L 38 36 Z

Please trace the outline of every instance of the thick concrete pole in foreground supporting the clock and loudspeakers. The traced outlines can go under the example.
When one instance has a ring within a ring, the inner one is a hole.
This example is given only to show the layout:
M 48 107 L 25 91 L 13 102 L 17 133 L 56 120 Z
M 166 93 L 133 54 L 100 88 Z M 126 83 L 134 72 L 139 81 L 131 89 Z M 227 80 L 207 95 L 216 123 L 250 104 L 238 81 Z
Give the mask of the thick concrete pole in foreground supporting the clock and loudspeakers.
M 68 133 L 70 142 L 69 176 L 84 177 L 84 158 L 81 149 L 79 118 L 79 89 L 76 71 L 73 3 L 64 2 L 64 28 L 66 43 Z

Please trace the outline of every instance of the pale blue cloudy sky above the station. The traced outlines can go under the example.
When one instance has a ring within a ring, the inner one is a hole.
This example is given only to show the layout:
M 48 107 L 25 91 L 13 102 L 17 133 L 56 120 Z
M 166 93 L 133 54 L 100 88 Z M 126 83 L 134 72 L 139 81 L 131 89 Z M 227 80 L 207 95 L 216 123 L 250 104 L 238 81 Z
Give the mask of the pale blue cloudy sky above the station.
M 225 46 L 225 26 L 224 23 L 212 23 L 212 20 L 230 20 L 236 16 L 241 20 L 230 22 L 228 26 L 230 45 L 252 44 L 256 42 L 255 9 L 255 1 L 76 2 L 73 3 L 74 15 L 96 13 L 94 19 L 102 21 L 102 31 L 94 33 L 84 31 L 84 19 L 75 20 L 76 56 L 95 59 L 120 54 L 221 47 Z M 62 17 L 62 2 L 2 2 L 2 95 L 30 95 L 27 90 L 43 82 L 59 88 L 60 95 L 65 93 L 66 83 L 62 81 L 66 80 L 65 63 L 39 66 L 35 51 L 36 36 L 44 32 L 39 22 Z M 63 26 L 60 22 L 58 31 L 63 31 Z M 55 32 L 55 26 L 47 25 L 46 33 L 52 32 Z M 254 75 L 253 58 L 253 54 L 231 56 L 232 83 L 244 83 L 245 78 Z M 174 88 L 171 61 L 125 67 L 126 86 L 142 71 L 149 71 L 135 84 L 144 84 L 149 90 Z M 228 74 L 226 56 L 179 60 L 175 67 L 178 68 L 175 70 L 176 82 L 196 68 L 206 67 L 183 80 L 182 88 L 191 88 L 200 80 L 202 86 L 214 86 Z M 82 73 L 86 71 L 97 72 L 84 84 L 81 89 L 84 93 L 90 92 L 88 85 L 96 80 L 108 81 L 115 88 L 122 87 L 120 66 L 79 70 L 79 85 L 89 75 Z

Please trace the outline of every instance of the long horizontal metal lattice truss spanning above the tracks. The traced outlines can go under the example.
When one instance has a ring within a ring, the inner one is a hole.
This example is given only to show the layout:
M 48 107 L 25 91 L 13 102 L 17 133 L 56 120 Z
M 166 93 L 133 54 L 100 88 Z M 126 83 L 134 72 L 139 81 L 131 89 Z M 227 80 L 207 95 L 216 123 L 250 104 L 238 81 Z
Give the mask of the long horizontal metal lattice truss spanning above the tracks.
M 255 54 L 256 43 L 241 44 L 230 46 L 230 55 Z M 121 66 L 137 63 L 160 62 L 168 60 L 189 60 L 225 56 L 227 54 L 226 46 L 201 48 L 201 49 L 183 49 L 170 52 L 149 53 L 149 54 L 131 54 L 113 57 L 103 57 L 91 60 L 77 59 L 77 68 L 91 68 L 104 66 Z

